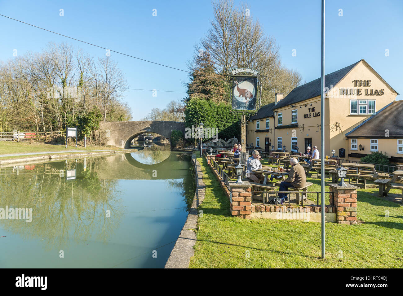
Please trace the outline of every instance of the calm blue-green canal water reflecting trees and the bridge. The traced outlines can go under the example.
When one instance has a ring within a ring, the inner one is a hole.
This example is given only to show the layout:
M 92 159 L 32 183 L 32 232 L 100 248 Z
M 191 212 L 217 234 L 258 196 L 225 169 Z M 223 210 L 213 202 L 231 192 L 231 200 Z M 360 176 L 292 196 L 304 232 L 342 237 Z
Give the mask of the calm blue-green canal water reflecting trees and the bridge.
M 191 156 L 134 153 L 0 168 L 2 268 L 164 267 L 195 193 Z M 29 210 L 27 211 L 29 213 Z

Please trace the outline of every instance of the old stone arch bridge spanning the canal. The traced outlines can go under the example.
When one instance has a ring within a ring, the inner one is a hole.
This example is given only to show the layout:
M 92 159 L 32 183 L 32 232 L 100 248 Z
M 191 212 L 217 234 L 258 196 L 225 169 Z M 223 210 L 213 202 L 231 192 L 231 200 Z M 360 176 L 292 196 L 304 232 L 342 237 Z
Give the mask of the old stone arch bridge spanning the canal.
M 107 145 L 130 148 L 131 141 L 145 132 L 155 132 L 171 142 L 172 130 L 185 134 L 185 123 L 162 120 L 101 122 L 99 130 L 105 132 Z

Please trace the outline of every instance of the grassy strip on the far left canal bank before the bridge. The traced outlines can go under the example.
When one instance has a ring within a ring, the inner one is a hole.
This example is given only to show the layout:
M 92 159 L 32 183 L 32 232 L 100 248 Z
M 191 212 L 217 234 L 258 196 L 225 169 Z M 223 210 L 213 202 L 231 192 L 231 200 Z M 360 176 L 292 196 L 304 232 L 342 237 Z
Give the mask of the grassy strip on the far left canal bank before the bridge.
M 114 146 L 96 146 L 89 145 L 84 148 L 84 145 L 80 145 L 77 143 L 77 148 L 75 144 L 69 143 L 67 148 L 65 145 L 54 145 L 43 142 L 15 142 L 15 141 L 0 141 L 0 155 L 4 154 L 15 154 L 15 153 L 34 153 L 34 152 L 57 152 L 63 150 L 115 150 L 120 149 Z M 29 155 L 34 156 L 34 155 Z M 25 157 L 25 156 L 24 156 Z M 19 156 L 8 156 L 8 157 L 0 157 L 0 159 L 12 159 L 12 158 L 21 158 Z

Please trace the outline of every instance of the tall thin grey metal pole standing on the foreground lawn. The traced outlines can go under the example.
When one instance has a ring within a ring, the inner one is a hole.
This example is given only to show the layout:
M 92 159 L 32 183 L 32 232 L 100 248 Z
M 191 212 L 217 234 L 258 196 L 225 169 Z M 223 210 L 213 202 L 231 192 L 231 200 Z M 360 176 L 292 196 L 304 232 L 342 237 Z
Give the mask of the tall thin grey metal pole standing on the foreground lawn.
M 322 210 L 322 259 L 325 258 L 325 0 L 322 0 L 322 54 L 321 54 L 321 157 L 320 162 L 320 189 L 321 189 L 321 210 Z

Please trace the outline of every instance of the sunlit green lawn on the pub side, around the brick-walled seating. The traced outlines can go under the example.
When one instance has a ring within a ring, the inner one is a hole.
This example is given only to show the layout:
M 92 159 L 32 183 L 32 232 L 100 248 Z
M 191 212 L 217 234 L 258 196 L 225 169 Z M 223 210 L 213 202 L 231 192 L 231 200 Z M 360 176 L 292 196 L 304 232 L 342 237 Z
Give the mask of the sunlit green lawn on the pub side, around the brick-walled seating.
M 362 223 L 326 223 L 326 259 L 322 260 L 320 223 L 232 217 L 229 200 L 207 161 L 198 160 L 206 196 L 199 207 L 203 216 L 198 219 L 195 255 L 189 267 L 403 267 L 403 206 L 377 197 L 378 188 L 358 191 L 357 218 Z M 308 179 L 314 182 L 310 190 L 320 191 L 320 179 Z

